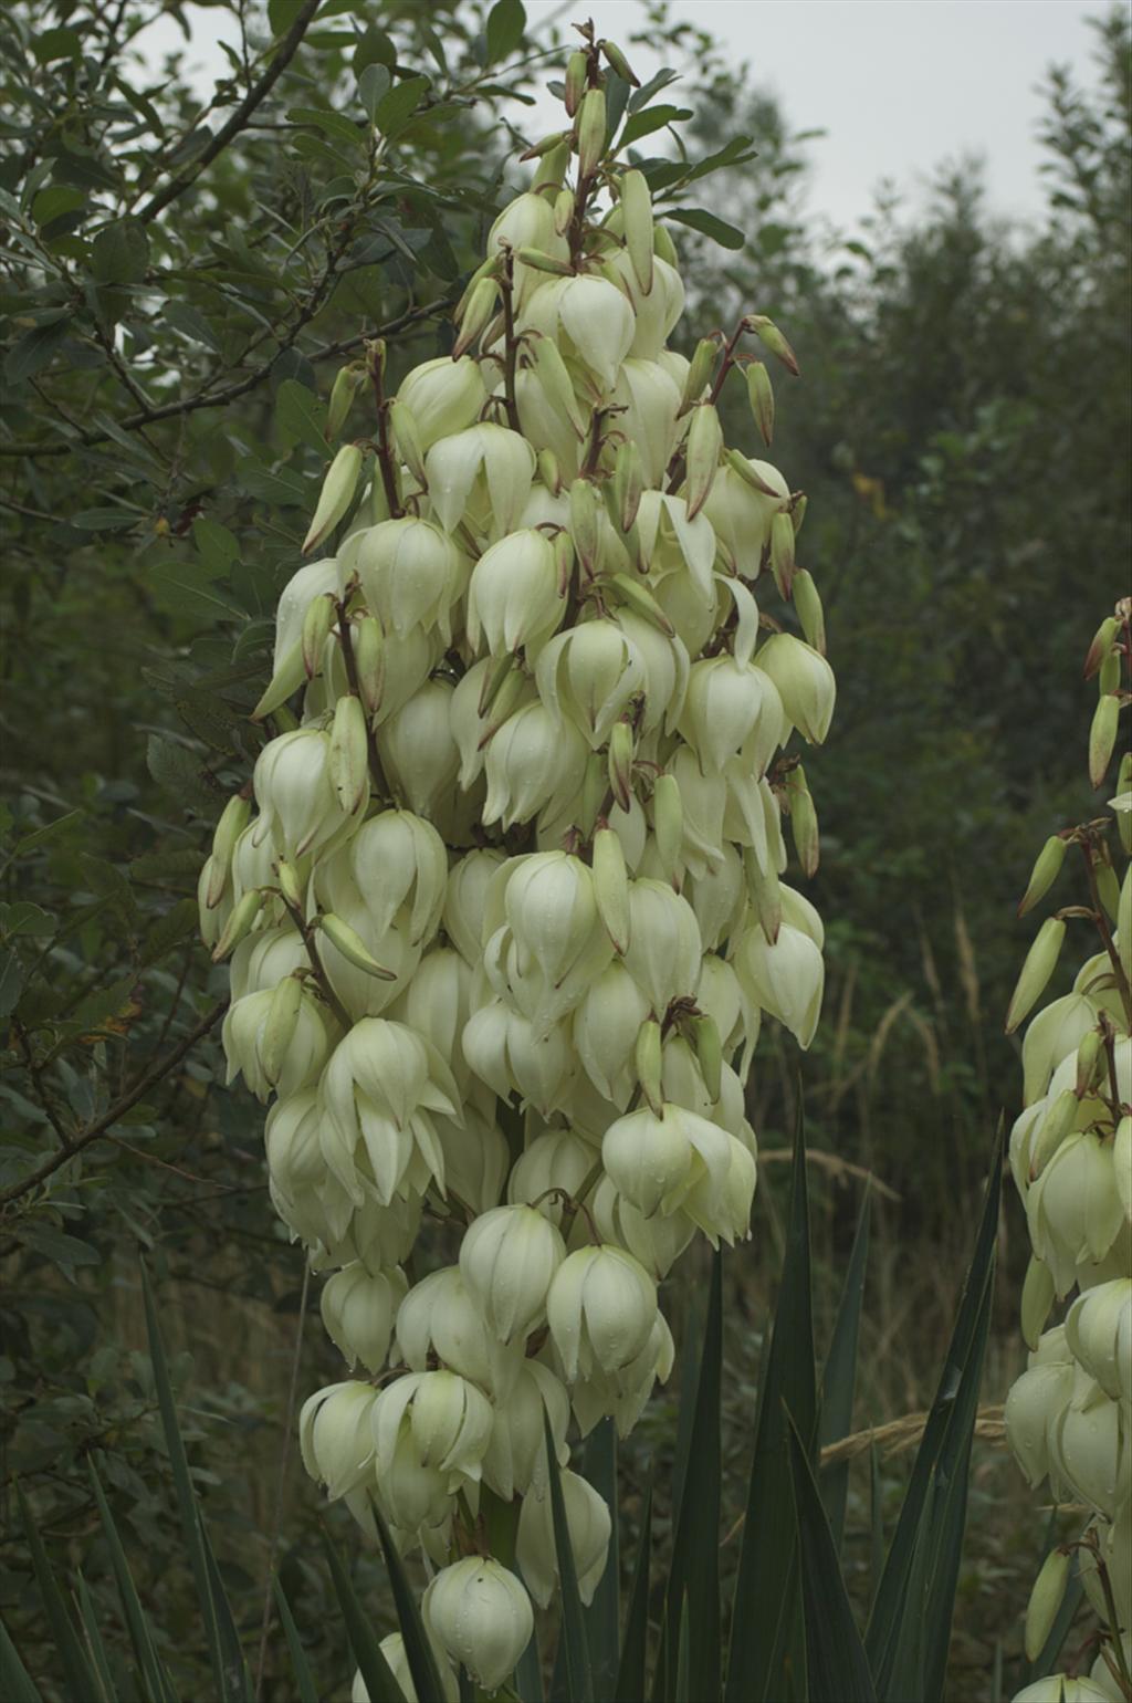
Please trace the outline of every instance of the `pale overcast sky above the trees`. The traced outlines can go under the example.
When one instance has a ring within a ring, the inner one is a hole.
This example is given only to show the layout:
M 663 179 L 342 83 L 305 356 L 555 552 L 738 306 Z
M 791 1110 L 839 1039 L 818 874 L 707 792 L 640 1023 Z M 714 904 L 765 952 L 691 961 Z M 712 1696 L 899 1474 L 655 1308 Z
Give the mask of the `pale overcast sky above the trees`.
M 601 34 L 626 44 L 642 27 L 642 0 L 526 0 L 531 24 L 592 15 Z M 793 129 L 824 129 L 809 145 L 809 211 L 849 230 L 890 179 L 912 206 L 945 160 L 980 153 L 991 206 L 1025 220 L 1040 208 L 1035 140 L 1038 85 L 1052 61 L 1093 85 L 1093 31 L 1105 0 L 676 0 L 686 17 L 720 37 L 754 82 L 783 102 Z M 363 10 L 363 7 L 359 7 Z M 380 17 L 374 3 L 374 17 Z M 203 87 L 226 70 L 216 48 L 225 14 L 186 5 L 191 58 Z M 160 31 L 160 34 L 158 34 Z M 175 48 L 172 19 L 146 37 L 148 53 Z M 649 75 L 633 49 L 633 66 Z

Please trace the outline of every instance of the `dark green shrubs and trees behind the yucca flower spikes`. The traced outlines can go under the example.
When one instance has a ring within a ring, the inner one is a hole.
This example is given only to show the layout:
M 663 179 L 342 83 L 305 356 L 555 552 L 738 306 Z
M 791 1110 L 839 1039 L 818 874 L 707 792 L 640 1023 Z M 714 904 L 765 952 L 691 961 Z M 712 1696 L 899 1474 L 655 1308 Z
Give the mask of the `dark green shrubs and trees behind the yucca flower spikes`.
M 169 1541 L 140 1248 L 242 1623 L 257 1625 L 277 1531 L 312 1660 L 347 1684 L 317 1497 L 281 1470 L 293 1366 L 303 1390 L 339 1366 L 318 1330 L 296 1342 L 303 1262 L 267 1201 L 262 1110 L 223 1087 L 225 972 L 196 943 L 194 879 L 260 739 L 247 717 L 337 364 L 381 329 L 393 378 L 449 346 L 523 99 L 548 75 L 517 0 L 490 15 L 466 0 L 216 10 L 247 29 L 214 111 L 179 56 L 155 70 L 138 51 L 157 15 L 177 17 L 169 0 L 14 0 L 0 34 L 0 1611 L 34 1672 L 46 1630 L 19 1482 L 112 1620 L 95 1454 L 186 1694 L 203 1694 L 201 1652 Z M 769 313 L 803 371 L 778 383 L 771 455 L 809 492 L 800 559 L 839 681 L 809 765 L 829 923 L 809 1141 L 899 1196 L 878 1201 L 865 1424 L 923 1400 L 989 1131 L 1016 1107 L 999 1015 L 1028 937 L 1015 903 L 1045 834 L 1088 814 L 1078 669 L 1130 559 L 1130 29 L 1123 10 L 1098 24 L 1098 97 L 1050 75 L 1047 209 L 1026 233 L 994 221 L 974 169 L 941 177 L 916 223 L 882 204 L 863 230 L 807 230 L 788 112 L 693 26 L 657 9 L 647 32 L 684 78 L 654 111 L 696 114 L 688 158 L 737 136 L 758 148 L 700 179 L 669 163 L 671 131 L 637 145 L 691 211 L 674 230 L 684 324 Z M 754 451 L 740 387 L 723 404 L 729 438 Z M 771 1155 L 788 1146 L 795 1069 L 768 1037 L 754 1122 Z M 856 1214 L 838 1163 L 814 1173 L 831 1274 Z M 732 1262 L 734 1410 L 778 1265 L 780 1180 L 771 1158 L 758 1241 Z M 1003 1236 L 1016 1274 L 1009 1213 Z M 991 1398 L 1021 1357 L 1004 1287 Z M 669 1419 L 657 1403 L 642 1454 L 664 1458 Z M 633 1458 L 626 1471 L 632 1485 Z M 996 1630 L 1016 1659 L 1035 1551 L 1037 1538 L 994 1550 L 974 1662 Z M 267 1696 L 289 1696 L 284 1672 L 272 1645 Z

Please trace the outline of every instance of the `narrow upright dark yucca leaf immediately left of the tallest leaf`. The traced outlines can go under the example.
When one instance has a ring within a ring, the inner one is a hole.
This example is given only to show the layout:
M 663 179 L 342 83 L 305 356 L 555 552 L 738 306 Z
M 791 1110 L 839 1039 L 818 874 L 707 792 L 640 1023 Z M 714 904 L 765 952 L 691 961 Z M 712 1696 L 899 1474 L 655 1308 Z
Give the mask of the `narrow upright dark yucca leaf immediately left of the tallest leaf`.
M 696 1676 L 698 1696 L 720 1694 L 720 1379 L 723 1364 L 723 1260 L 712 1260 L 712 1289 L 703 1327 L 700 1374 L 681 1391 L 693 1408 L 683 1494 L 672 1536 L 666 1621 L 681 1626 L 681 1649 Z M 684 1626 L 686 1616 L 686 1626 Z M 669 1693 L 679 1693 L 671 1652 Z

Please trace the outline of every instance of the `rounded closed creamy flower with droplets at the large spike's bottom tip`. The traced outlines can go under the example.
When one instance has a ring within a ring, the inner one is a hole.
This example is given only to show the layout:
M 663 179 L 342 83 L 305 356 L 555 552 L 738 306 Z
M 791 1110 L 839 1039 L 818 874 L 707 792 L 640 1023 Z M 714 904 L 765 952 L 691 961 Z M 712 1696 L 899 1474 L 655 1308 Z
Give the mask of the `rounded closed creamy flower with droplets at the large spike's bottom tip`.
M 531 1599 L 514 1574 L 485 1555 L 443 1567 L 424 1592 L 424 1623 L 453 1662 L 495 1691 L 531 1642 Z

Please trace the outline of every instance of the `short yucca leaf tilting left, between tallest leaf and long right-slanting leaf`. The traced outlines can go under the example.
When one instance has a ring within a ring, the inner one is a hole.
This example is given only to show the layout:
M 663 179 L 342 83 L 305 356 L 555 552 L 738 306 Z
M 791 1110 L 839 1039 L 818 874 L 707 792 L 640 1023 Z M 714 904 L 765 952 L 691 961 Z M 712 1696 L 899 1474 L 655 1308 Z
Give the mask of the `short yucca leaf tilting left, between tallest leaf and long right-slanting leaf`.
M 877 1703 L 865 1645 L 841 1577 L 838 1545 L 793 1420 L 788 1422 L 788 1436 L 802 1546 L 807 1698 L 809 1703 Z

